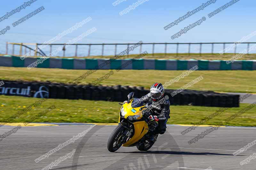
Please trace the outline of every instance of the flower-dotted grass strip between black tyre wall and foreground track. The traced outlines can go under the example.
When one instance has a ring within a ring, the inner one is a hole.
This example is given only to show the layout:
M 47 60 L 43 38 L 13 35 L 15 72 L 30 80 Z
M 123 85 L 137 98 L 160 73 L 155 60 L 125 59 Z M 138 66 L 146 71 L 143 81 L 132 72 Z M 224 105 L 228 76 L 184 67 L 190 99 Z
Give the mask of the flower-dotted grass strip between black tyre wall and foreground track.
M 39 99 L 2 95 L 0 98 L 0 122 L 30 106 L 36 100 Z M 56 109 L 36 119 L 34 122 L 117 123 L 121 107 L 117 102 L 108 101 L 48 99 L 20 117 L 13 119 L 12 122 L 25 122 L 52 105 L 55 105 Z M 228 124 L 224 122 L 226 118 L 248 105 L 240 104 L 240 107 L 229 108 L 205 122 L 205 125 L 256 126 L 255 107 L 228 122 Z M 171 118 L 168 120 L 168 124 L 195 124 L 218 109 L 219 107 L 171 106 Z

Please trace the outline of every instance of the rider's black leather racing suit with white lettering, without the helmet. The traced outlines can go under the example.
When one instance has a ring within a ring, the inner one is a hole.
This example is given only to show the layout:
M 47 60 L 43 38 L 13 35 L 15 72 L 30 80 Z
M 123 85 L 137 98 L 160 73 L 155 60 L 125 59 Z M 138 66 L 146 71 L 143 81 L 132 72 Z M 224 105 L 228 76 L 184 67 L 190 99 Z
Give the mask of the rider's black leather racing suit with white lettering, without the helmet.
M 152 115 L 157 116 L 157 118 L 159 119 L 158 129 L 156 130 L 156 133 L 159 134 L 164 134 L 164 132 L 166 131 L 167 120 L 168 118 L 170 118 L 170 101 L 169 98 L 166 100 L 164 97 L 165 95 L 158 101 L 153 101 L 150 97 L 150 93 L 141 97 L 144 103 L 152 102 Z

